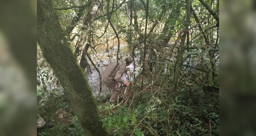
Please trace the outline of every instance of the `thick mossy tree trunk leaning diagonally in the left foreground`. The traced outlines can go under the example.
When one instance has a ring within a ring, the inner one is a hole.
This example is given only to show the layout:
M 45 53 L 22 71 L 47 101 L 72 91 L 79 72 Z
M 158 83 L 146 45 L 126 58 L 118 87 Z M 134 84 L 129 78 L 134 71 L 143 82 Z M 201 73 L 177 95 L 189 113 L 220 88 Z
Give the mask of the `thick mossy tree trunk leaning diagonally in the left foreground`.
M 91 88 L 65 35 L 51 0 L 37 0 L 37 38 L 46 61 L 66 90 L 86 136 L 106 136 Z

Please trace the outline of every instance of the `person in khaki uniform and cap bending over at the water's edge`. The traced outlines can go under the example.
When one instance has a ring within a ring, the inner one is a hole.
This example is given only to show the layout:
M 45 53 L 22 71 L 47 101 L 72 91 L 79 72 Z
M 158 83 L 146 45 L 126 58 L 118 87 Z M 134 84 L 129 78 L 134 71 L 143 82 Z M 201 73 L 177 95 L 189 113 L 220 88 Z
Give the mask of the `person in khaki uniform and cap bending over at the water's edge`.
M 127 56 L 125 58 L 125 62 L 123 62 L 123 61 L 118 61 L 118 62 L 119 62 L 119 65 L 117 66 L 117 68 L 114 71 L 113 71 L 113 69 L 117 65 L 117 59 L 114 60 L 112 63 L 110 63 L 106 67 L 106 69 L 102 75 L 103 84 L 105 84 L 106 86 L 108 86 L 114 90 L 113 95 L 109 99 L 110 103 L 113 103 L 114 101 L 117 100 L 119 92 L 124 88 L 124 85 L 129 86 L 131 84 L 130 82 L 124 81 L 122 79 L 122 76 L 123 76 L 126 66 L 131 65 L 131 63 L 133 62 L 133 58 L 131 56 Z M 113 73 L 111 74 L 112 71 L 113 71 Z M 110 75 L 110 77 L 109 77 L 109 75 Z

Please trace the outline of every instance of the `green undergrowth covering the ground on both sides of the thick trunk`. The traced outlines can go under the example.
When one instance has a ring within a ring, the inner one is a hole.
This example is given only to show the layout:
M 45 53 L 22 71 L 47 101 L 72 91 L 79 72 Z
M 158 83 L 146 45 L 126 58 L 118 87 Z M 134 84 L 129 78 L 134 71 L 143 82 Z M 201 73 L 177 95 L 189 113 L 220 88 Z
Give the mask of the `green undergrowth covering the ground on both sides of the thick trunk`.
M 136 88 L 136 87 L 134 87 Z M 134 94 L 138 93 L 134 89 Z M 158 92 L 156 92 L 158 91 Z M 194 87 L 177 90 L 166 111 L 165 90 L 144 91 L 130 105 L 112 108 L 107 97 L 98 97 L 97 104 L 105 130 L 113 136 L 216 136 L 219 131 L 218 93 Z M 152 92 L 154 95 L 152 96 Z M 155 93 L 156 92 L 156 93 Z M 161 93 L 160 93 L 161 92 Z M 210 98 L 211 97 L 211 98 Z M 130 101 L 131 102 L 131 101 Z M 130 108 L 129 108 L 130 107 Z M 39 130 L 41 136 L 84 136 L 74 110 L 65 94 L 48 98 L 38 106 L 38 114 L 52 122 L 51 129 Z

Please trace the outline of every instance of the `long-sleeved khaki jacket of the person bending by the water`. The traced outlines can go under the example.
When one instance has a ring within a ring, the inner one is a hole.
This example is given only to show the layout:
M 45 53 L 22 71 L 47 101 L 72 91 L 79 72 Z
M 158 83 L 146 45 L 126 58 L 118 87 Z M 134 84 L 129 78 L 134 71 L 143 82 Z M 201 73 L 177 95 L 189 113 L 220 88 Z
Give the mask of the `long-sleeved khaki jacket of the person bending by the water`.
M 119 65 L 114 70 L 114 72 L 110 75 L 110 73 L 113 71 L 114 67 L 117 65 L 117 60 L 114 60 L 112 63 L 110 63 L 102 75 L 102 80 L 105 82 L 106 85 L 110 85 L 111 83 L 118 82 L 120 84 L 125 84 L 125 81 L 122 79 L 122 76 L 124 74 L 126 64 L 125 62 L 118 61 Z M 109 77 L 110 75 L 110 77 Z M 109 79 L 108 79 L 109 77 Z

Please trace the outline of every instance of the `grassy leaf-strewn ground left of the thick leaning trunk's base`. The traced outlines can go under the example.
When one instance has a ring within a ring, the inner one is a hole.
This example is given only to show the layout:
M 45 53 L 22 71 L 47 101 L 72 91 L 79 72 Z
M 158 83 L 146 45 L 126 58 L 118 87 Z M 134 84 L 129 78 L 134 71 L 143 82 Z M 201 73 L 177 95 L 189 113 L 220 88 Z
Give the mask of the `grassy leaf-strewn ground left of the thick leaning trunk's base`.
M 65 94 L 59 96 L 52 95 L 44 101 L 43 105 L 39 103 L 37 106 L 37 114 L 42 117 L 45 122 L 54 124 L 54 127 L 51 129 L 39 130 L 39 135 L 68 136 L 70 132 L 67 130 L 67 127 L 70 123 L 76 121 L 75 111 Z M 63 134 L 59 134 L 59 132 Z

